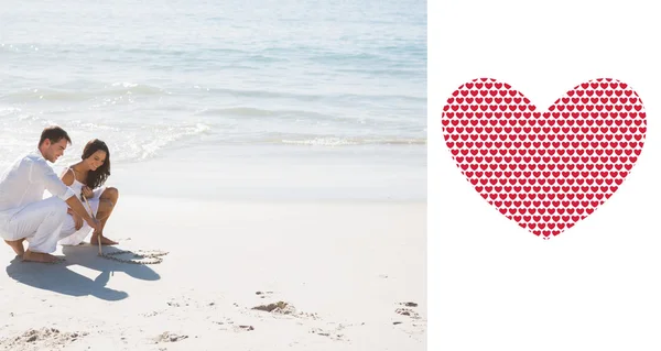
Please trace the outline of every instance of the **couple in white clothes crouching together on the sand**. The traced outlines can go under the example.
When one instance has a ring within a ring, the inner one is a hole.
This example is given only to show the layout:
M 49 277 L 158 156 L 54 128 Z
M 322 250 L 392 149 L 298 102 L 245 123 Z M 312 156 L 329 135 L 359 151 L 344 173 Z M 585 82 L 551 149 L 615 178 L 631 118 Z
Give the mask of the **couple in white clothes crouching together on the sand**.
M 116 188 L 104 186 L 110 175 L 108 146 L 96 139 L 88 142 L 82 161 L 57 177 L 46 161 L 55 163 L 71 143 L 66 131 L 48 127 L 37 150 L 19 157 L 0 175 L 0 238 L 23 261 L 57 263 L 61 259 L 51 254 L 57 243 L 77 245 L 93 229 L 91 243 L 100 238 L 102 244 L 117 244 L 102 234 L 119 197 Z M 53 196 L 44 199 L 44 190 Z M 83 197 L 91 211 L 83 205 Z

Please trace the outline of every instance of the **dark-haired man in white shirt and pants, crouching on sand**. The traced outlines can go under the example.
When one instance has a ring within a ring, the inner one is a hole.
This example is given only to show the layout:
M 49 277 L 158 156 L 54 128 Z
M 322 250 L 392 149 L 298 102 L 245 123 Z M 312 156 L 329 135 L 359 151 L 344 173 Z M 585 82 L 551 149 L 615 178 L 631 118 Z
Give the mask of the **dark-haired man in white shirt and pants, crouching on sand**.
M 59 127 L 43 130 L 39 149 L 17 160 L 0 176 L 0 237 L 23 261 L 56 263 L 59 231 L 67 216 L 67 205 L 95 229 L 100 222 L 89 216 L 74 191 L 46 163 L 55 163 L 72 143 Z M 53 197 L 43 199 L 44 190 Z M 30 243 L 23 248 L 23 240 Z

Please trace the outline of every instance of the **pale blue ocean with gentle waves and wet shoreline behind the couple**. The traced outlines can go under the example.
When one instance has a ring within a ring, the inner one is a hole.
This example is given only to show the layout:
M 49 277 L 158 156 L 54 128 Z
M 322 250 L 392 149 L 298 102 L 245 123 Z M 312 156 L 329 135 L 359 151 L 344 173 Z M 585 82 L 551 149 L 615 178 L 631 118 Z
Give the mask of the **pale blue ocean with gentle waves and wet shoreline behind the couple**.
M 424 197 L 426 2 L 3 0 L 0 167 L 48 124 L 74 140 L 58 166 L 99 138 L 116 169 Z

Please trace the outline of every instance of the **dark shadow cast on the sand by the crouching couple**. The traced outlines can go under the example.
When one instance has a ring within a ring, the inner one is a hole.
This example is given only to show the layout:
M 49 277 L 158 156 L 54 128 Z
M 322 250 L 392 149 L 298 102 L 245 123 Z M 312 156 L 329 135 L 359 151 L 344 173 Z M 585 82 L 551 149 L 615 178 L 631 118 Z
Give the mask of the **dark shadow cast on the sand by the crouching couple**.
M 104 252 L 110 253 L 119 249 L 105 246 Z M 71 296 L 95 296 L 97 298 L 117 301 L 129 297 L 126 292 L 106 287 L 110 274 L 126 273 L 142 281 L 158 281 L 161 276 L 148 265 L 127 264 L 106 260 L 98 256 L 98 248 L 93 245 L 64 246 L 66 261 L 58 264 L 22 262 L 18 256 L 7 266 L 7 274 L 19 283 L 36 288 L 51 290 Z M 80 265 L 100 274 L 93 281 L 68 268 L 69 265 Z

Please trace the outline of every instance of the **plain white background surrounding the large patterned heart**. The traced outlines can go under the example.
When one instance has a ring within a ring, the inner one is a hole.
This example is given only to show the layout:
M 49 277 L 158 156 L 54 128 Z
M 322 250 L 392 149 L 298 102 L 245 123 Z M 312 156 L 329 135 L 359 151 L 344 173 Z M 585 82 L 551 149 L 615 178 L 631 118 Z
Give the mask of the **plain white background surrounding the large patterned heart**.
M 653 1 L 429 1 L 429 350 L 661 350 L 661 19 Z M 538 111 L 616 78 L 648 117 L 618 191 L 551 240 L 488 205 L 452 160 L 441 112 L 489 77 Z

